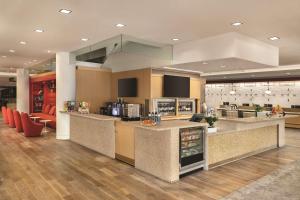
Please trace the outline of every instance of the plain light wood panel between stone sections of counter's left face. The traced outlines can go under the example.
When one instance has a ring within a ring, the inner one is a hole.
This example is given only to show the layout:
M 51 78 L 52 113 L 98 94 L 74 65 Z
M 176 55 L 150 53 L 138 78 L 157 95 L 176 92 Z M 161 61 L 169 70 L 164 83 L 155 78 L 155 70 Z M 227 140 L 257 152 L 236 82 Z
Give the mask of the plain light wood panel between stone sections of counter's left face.
M 134 126 L 116 122 L 116 154 L 120 155 L 121 159 L 125 157 L 125 159 L 134 160 Z

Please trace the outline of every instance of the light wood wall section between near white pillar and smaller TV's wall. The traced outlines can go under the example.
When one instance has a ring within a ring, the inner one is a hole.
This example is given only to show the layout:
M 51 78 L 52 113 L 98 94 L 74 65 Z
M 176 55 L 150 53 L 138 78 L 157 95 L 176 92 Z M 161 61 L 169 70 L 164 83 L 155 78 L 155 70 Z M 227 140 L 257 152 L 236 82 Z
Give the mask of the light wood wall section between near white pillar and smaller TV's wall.
M 90 112 L 99 112 L 105 102 L 111 101 L 112 72 L 109 69 L 98 69 L 78 66 L 76 70 L 76 101 L 91 104 Z

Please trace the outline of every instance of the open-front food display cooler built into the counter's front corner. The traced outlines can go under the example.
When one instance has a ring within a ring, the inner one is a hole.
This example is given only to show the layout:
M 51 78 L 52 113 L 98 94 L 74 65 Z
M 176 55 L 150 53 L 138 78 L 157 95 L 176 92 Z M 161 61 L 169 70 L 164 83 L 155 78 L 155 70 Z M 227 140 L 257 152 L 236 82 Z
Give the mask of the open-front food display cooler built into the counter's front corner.
M 180 175 L 204 167 L 204 132 L 203 127 L 179 130 Z

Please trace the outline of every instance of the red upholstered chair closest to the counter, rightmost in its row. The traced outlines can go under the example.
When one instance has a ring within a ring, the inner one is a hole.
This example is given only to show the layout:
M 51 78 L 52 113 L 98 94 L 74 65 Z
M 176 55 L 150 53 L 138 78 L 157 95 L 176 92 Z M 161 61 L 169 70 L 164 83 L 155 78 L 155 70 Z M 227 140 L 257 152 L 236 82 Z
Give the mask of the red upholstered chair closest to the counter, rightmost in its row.
M 44 126 L 33 122 L 27 113 L 21 113 L 21 121 L 25 137 L 37 137 L 41 135 Z

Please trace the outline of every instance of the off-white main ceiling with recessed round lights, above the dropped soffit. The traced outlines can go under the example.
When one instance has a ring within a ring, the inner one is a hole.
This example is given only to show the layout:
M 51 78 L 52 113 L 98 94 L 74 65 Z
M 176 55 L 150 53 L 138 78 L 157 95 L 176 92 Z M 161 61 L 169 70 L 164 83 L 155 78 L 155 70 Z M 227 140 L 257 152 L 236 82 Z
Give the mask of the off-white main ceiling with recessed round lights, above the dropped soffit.
M 63 15 L 58 12 L 61 8 L 73 12 Z M 299 10 L 300 0 L 0 0 L 0 67 L 33 65 L 33 60 L 120 33 L 175 44 L 232 31 L 278 46 L 281 65 L 296 64 L 300 63 Z M 244 25 L 232 27 L 234 21 Z M 119 29 L 117 23 L 127 26 Z M 45 32 L 34 32 L 37 28 Z M 273 35 L 281 40 L 267 39 Z

